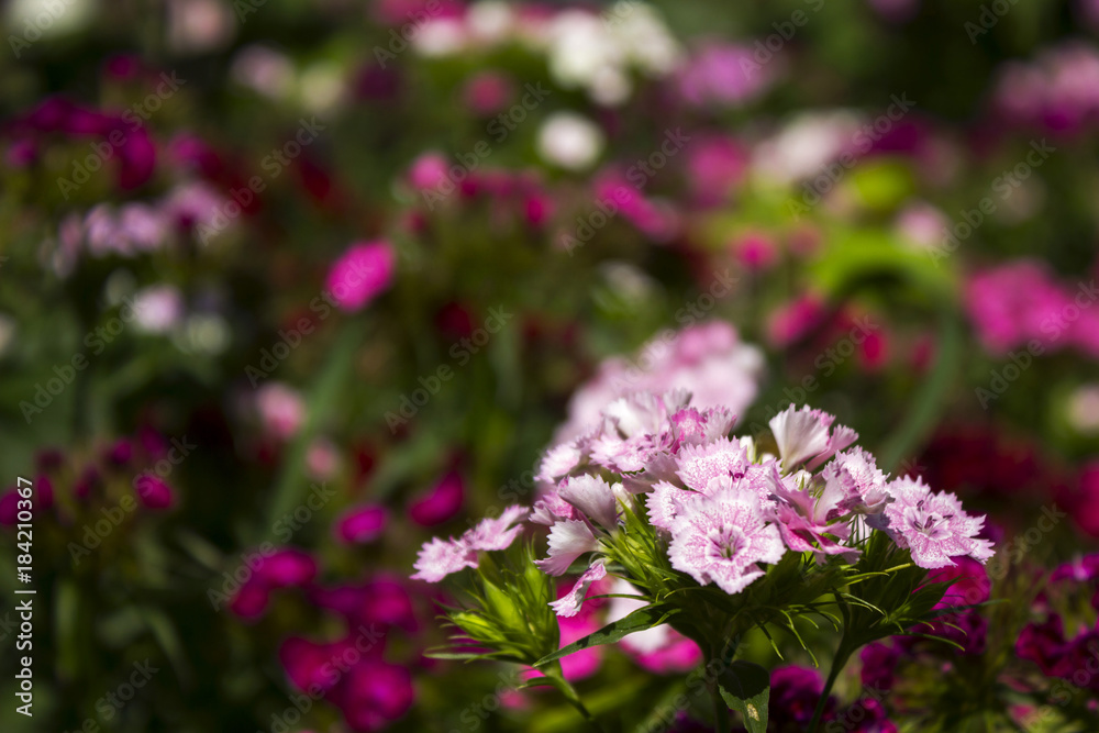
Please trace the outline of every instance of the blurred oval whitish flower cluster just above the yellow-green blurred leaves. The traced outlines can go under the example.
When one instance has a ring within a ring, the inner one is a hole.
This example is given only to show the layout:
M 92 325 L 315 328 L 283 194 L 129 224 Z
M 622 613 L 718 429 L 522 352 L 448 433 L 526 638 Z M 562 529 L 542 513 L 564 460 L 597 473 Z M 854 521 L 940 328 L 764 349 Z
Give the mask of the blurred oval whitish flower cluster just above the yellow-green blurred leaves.
M 815 177 L 855 144 L 861 122 L 845 110 L 798 115 L 756 146 L 752 167 L 784 185 Z

